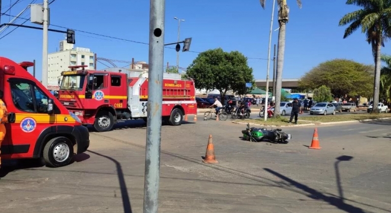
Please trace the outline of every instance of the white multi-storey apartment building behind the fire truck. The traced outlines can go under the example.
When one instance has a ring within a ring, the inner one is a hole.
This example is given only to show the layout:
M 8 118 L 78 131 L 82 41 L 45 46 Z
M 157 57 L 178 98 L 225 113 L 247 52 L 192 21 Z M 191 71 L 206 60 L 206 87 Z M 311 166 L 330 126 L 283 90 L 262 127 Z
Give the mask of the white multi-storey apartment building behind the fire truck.
M 48 54 L 48 88 L 58 90 L 61 72 L 69 70 L 68 66 L 75 65 L 88 65 L 87 69 L 94 69 L 94 53 L 89 48 L 74 48 L 66 40 L 59 42 L 59 51 Z

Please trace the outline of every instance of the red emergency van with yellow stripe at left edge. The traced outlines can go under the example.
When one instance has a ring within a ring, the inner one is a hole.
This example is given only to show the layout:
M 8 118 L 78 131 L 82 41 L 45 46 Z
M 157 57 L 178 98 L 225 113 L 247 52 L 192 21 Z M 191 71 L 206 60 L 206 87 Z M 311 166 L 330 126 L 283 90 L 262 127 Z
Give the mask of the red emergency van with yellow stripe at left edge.
M 87 150 L 88 129 L 27 72 L 32 65 L 0 57 L 0 89 L 8 110 L 1 157 L 43 157 L 51 167 L 68 165 L 74 154 Z

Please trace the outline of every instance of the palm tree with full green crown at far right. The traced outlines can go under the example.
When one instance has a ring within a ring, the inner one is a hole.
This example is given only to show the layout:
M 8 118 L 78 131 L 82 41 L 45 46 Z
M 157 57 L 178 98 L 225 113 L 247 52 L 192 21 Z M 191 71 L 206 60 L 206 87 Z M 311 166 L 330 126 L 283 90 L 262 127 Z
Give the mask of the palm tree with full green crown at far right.
M 372 54 L 375 59 L 375 82 L 373 89 L 373 105 L 379 102 L 380 70 L 381 70 L 381 46 L 391 34 L 391 0 L 347 0 L 347 5 L 355 5 L 362 9 L 346 14 L 341 18 L 339 26 L 350 23 L 345 29 L 344 39 L 361 27 L 366 33 L 366 41 L 372 46 Z M 376 107 L 373 113 L 378 113 Z

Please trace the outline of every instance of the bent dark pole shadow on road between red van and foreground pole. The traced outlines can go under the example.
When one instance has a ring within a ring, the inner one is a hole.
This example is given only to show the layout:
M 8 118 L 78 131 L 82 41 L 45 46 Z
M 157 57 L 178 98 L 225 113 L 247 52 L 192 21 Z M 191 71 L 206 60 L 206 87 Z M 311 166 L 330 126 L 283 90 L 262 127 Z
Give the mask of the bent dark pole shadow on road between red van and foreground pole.
M 130 197 L 128 194 L 128 188 L 126 187 L 124 172 L 122 170 L 121 163 L 119 163 L 117 160 L 115 160 L 112 157 L 109 157 L 109 156 L 106 156 L 106 155 L 103 155 L 103 154 L 100 154 L 100 153 L 97 153 L 97 152 L 94 152 L 91 150 L 87 150 L 87 152 L 91 152 L 95 155 L 107 158 L 115 164 L 115 167 L 117 169 L 119 188 L 121 189 L 121 197 L 122 197 L 122 203 L 124 206 L 124 212 L 125 213 L 132 213 L 132 206 L 130 205 Z

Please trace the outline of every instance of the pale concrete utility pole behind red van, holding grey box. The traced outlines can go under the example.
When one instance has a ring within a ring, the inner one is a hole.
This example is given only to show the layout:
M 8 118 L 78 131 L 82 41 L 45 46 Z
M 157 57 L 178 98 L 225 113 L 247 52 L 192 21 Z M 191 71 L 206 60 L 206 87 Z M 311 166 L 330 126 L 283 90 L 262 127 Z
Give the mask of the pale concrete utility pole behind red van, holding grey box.
M 47 29 L 48 29 L 48 0 L 43 0 L 43 41 L 42 41 L 42 84 L 44 87 L 47 88 Z

